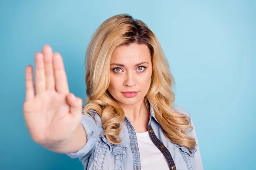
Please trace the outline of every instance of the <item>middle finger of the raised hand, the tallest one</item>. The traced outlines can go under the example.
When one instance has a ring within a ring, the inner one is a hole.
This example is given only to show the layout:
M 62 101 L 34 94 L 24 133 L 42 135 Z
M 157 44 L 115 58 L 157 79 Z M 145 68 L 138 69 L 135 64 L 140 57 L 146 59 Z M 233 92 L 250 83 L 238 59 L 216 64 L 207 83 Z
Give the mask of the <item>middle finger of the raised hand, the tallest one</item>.
M 52 65 L 52 48 L 49 45 L 44 45 L 43 55 L 44 55 L 45 77 L 46 77 L 46 89 L 54 90 L 55 80 L 54 80 L 53 65 Z

